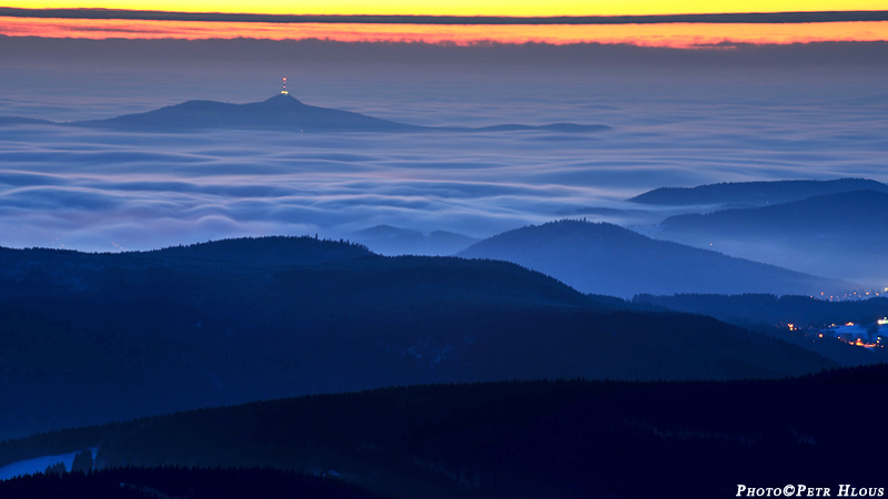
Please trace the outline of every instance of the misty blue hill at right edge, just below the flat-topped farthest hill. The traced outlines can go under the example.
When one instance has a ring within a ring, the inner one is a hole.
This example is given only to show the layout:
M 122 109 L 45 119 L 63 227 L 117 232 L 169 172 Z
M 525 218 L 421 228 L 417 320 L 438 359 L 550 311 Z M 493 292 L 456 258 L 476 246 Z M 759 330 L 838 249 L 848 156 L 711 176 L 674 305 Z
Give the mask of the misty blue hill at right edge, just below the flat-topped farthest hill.
M 759 208 L 679 215 L 658 237 L 829 277 L 888 283 L 888 193 L 854 191 Z

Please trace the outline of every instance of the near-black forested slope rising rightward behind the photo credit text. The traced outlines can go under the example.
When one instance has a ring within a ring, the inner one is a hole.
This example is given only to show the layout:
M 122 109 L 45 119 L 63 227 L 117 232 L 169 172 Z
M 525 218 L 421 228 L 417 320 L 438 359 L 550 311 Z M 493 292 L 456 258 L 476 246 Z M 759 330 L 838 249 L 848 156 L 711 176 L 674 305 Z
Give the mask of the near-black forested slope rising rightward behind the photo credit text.
M 885 365 L 785 380 L 387 388 L 64 430 L 0 445 L 0 462 L 98 447 L 99 467 L 335 471 L 398 498 L 717 498 L 799 483 L 837 497 L 842 483 L 886 487 L 886 388 Z

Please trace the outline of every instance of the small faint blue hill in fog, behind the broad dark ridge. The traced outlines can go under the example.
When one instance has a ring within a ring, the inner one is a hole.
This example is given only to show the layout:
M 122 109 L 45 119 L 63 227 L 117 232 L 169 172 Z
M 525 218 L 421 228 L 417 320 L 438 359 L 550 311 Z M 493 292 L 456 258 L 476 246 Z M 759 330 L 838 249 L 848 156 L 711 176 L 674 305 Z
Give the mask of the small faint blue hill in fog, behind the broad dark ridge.
M 478 240 L 447 231 L 420 231 L 375 225 L 357 231 L 351 236 L 383 255 L 452 255 L 465 249 Z

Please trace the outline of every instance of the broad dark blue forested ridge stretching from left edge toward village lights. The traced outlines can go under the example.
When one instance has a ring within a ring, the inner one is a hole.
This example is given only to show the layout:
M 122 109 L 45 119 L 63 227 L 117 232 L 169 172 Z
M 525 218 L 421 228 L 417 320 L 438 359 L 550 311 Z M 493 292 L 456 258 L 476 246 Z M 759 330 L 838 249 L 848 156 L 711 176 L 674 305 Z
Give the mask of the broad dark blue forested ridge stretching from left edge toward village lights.
M 717 320 L 638 313 L 514 264 L 309 237 L 0 251 L 0 437 L 418 383 L 730 379 L 834 366 Z

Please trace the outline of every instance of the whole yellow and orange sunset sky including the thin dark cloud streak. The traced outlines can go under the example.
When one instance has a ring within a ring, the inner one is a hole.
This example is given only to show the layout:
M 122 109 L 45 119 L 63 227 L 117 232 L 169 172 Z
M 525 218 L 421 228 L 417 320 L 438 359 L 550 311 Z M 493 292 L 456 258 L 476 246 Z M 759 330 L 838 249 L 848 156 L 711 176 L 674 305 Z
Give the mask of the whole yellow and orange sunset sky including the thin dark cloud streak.
M 88 7 L 88 8 L 87 8 Z M 59 2 L 0 7 L 0 34 L 88 39 L 271 39 L 424 43 L 719 43 L 886 41 L 888 11 L 838 2 Z M 54 9 L 53 9 L 54 8 Z M 141 10 L 140 10 L 141 9 Z M 249 11 L 245 11 L 249 9 Z M 804 11 L 804 12 L 799 12 Z

